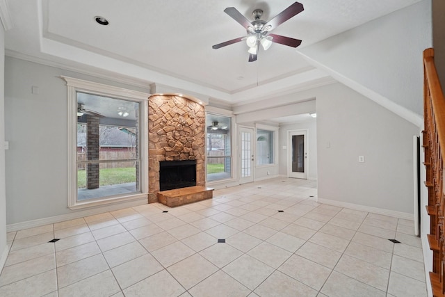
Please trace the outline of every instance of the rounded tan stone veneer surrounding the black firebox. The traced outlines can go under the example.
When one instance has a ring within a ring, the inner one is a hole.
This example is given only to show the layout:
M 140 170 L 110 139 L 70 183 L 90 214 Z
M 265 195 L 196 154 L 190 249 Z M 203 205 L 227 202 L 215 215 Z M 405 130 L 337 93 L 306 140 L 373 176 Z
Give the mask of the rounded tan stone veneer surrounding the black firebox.
M 175 95 L 148 99 L 148 202 L 158 202 L 159 162 L 196 160 L 196 185 L 205 184 L 204 106 Z

